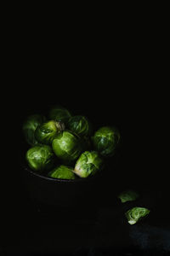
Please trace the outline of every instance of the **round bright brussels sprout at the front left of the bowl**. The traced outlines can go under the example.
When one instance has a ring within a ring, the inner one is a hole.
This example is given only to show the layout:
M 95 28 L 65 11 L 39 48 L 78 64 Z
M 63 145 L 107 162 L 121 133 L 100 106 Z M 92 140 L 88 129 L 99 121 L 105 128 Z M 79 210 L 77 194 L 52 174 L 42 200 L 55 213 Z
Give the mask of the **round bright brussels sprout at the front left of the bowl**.
M 32 170 L 49 171 L 54 166 L 54 152 L 47 145 L 37 145 L 28 149 L 26 161 Z

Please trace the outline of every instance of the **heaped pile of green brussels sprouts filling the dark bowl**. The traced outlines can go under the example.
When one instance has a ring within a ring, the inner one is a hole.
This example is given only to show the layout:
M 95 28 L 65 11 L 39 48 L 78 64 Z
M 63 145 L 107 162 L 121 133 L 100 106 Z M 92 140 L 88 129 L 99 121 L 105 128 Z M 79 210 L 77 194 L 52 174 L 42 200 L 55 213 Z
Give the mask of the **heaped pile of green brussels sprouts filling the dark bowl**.
M 72 115 L 60 106 L 49 109 L 47 116 L 28 116 L 22 128 L 30 145 L 27 165 L 52 178 L 94 176 L 104 168 L 105 159 L 115 154 L 120 141 L 115 126 L 94 131 L 87 117 Z

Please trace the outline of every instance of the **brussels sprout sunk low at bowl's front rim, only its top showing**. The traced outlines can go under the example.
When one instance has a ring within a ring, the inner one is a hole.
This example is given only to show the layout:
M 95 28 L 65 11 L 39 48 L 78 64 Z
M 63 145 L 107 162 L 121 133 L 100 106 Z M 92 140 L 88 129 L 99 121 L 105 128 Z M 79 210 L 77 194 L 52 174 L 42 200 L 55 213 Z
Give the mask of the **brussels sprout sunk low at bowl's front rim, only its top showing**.
M 48 177 L 62 178 L 62 179 L 75 179 L 75 174 L 72 172 L 73 168 L 69 166 L 57 166 L 48 173 Z

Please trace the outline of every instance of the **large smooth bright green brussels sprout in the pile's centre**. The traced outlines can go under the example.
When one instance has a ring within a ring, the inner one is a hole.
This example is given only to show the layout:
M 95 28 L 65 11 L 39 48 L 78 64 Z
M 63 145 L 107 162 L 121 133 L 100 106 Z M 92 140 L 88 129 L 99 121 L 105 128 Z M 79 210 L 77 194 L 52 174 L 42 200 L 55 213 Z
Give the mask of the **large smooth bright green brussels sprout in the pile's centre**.
M 60 159 L 70 162 L 82 153 L 82 140 L 72 131 L 65 130 L 54 138 L 52 148 Z

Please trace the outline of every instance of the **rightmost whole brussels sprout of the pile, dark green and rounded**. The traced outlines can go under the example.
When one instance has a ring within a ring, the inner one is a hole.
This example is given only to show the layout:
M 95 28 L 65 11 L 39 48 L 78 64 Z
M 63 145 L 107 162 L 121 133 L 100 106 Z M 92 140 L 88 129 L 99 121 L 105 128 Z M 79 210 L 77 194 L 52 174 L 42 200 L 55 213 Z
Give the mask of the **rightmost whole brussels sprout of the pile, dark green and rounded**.
M 120 133 L 116 127 L 101 127 L 92 137 L 94 148 L 105 157 L 115 153 L 115 149 L 120 140 Z

